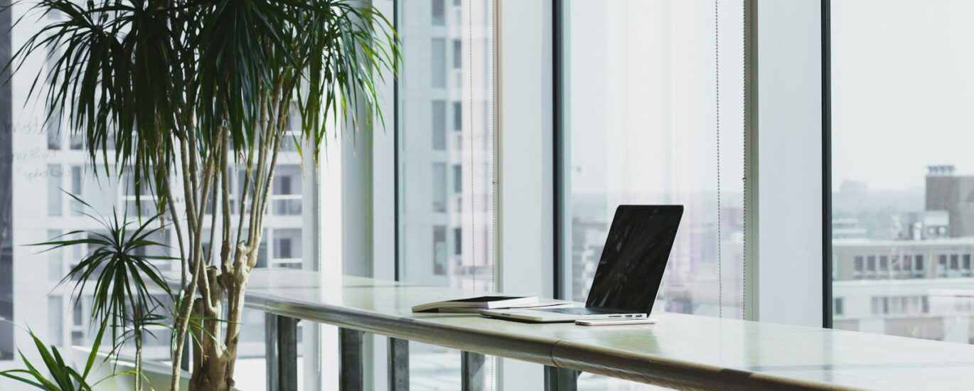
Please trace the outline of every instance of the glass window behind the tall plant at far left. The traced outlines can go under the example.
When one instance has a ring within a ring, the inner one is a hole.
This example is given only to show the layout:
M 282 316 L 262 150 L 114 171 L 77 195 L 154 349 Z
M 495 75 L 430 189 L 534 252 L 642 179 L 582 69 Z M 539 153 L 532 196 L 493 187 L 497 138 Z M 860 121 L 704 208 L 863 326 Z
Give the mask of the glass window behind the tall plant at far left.
M 32 23 L 29 21 L 33 16 L 28 15 L 11 30 L 11 21 L 24 17 L 31 7 L 31 4 L 16 3 L 10 8 L 2 8 L 0 64 L 7 63 L 11 48 L 17 49 L 43 23 L 57 19 L 56 14 L 50 14 L 40 23 Z M 81 212 L 112 215 L 113 210 L 117 210 L 120 216 L 123 211 L 130 216 L 136 215 L 132 177 L 106 178 L 104 170 L 95 175 L 92 162 L 83 150 L 84 137 L 66 134 L 67 126 L 59 121 L 60 116 L 48 120 L 42 111 L 42 102 L 25 101 L 36 69 L 45 66 L 50 69 L 52 63 L 48 54 L 32 56 L 21 71 L 13 75 L 11 83 L 5 83 L 6 74 L 0 74 L 0 371 L 22 366 L 19 359 L 14 361 L 17 346 L 26 352 L 34 350 L 29 348 L 32 342 L 27 333 L 13 325 L 29 326 L 46 343 L 57 345 L 62 352 L 70 352 L 67 346 L 70 344 L 88 345 L 94 336 L 88 325 L 91 297 L 82 297 L 76 306 L 71 296 L 72 282 L 56 288 L 69 268 L 92 249 L 72 247 L 39 253 L 40 248 L 26 245 L 47 241 L 64 232 L 100 228 L 96 221 Z M 39 85 L 37 88 L 44 87 Z M 41 97 L 45 95 L 46 92 L 40 94 Z M 64 118 L 69 114 L 65 113 Z M 110 170 L 116 172 L 115 167 Z M 259 251 L 258 267 L 317 268 L 305 263 L 304 255 L 312 252 L 302 249 L 302 230 L 307 226 L 305 218 L 310 218 L 307 214 L 311 211 L 302 208 L 305 192 L 310 188 L 303 183 L 306 177 L 303 170 L 297 148 L 293 144 L 283 148 L 265 218 L 267 233 Z M 240 171 L 231 177 L 243 175 Z M 241 191 L 241 182 L 232 185 L 231 198 L 237 197 Z M 68 193 L 91 204 L 94 211 L 83 210 L 82 204 Z M 141 215 L 155 212 L 151 208 L 153 200 L 151 194 L 142 195 L 139 200 Z M 239 205 L 232 206 L 235 214 L 238 208 Z M 205 221 L 208 231 L 210 218 L 207 216 Z M 185 229 L 185 224 L 182 227 Z M 165 235 L 151 239 L 173 248 L 176 246 L 171 228 Z M 178 253 L 172 249 L 159 252 L 157 255 Z M 178 263 L 174 261 L 161 260 L 158 266 L 164 271 L 178 270 Z M 88 288 L 90 290 L 91 286 Z M 238 384 L 263 384 L 264 315 L 260 311 L 244 311 L 245 324 L 235 378 Z M 169 332 L 165 329 L 152 332 L 154 336 L 146 336 L 145 359 L 168 361 Z M 123 354 L 131 356 L 132 350 Z M 244 371 L 252 368 L 260 371 Z M 8 386 L 6 381 L 0 380 L 0 389 L 15 387 Z

